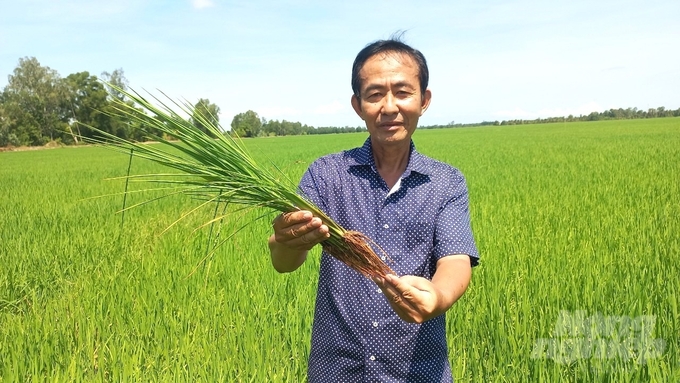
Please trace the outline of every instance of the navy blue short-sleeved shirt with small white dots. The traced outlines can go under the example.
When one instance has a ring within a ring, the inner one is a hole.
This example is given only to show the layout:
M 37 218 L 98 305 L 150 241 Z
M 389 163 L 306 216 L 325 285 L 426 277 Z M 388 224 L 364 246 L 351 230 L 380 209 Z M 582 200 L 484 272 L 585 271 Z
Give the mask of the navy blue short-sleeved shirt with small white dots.
M 477 264 L 463 175 L 418 153 L 413 143 L 393 190 L 376 170 L 370 138 L 362 147 L 316 160 L 300 190 L 342 227 L 370 237 L 397 275 L 432 279 L 437 261 L 454 254 Z M 308 379 L 451 382 L 445 315 L 404 322 L 373 281 L 324 252 Z

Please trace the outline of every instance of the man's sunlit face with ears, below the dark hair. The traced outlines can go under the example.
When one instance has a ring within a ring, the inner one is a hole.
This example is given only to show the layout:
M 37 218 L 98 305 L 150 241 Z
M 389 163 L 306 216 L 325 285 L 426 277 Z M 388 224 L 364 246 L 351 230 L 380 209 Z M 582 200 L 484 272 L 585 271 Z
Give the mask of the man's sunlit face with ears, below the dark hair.
M 420 91 L 418 66 L 410 56 L 377 54 L 359 71 L 360 97 L 352 107 L 366 122 L 374 145 L 410 143 L 418 119 L 430 105 L 431 93 Z

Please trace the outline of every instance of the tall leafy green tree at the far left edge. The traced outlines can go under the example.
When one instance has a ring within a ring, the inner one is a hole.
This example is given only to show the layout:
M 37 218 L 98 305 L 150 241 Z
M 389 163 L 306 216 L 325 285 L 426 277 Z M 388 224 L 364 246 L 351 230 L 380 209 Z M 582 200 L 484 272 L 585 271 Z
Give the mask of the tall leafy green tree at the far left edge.
M 45 144 L 66 130 L 66 88 L 57 71 L 41 66 L 35 57 L 24 57 L 8 80 L 4 113 L 22 145 Z

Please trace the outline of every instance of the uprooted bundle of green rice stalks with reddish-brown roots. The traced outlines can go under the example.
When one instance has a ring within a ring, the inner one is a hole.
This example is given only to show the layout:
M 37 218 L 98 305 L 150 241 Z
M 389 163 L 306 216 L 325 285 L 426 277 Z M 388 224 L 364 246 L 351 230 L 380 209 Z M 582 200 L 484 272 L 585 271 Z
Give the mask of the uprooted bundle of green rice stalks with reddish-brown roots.
M 167 102 L 155 96 L 147 100 L 135 91 L 114 86 L 111 88 L 132 101 L 127 103 L 114 98 L 113 114 L 144 126 L 147 137 L 160 144 L 140 144 L 106 132 L 100 132 L 103 138 L 96 141 L 183 174 L 180 178 L 176 174 L 147 174 L 145 177 L 153 178 L 154 182 L 167 183 L 179 193 L 200 197 L 203 200 L 201 206 L 226 202 L 244 208 L 264 207 L 279 212 L 308 210 L 328 226 L 330 237 L 321 243 L 328 254 L 367 277 L 380 278 L 394 273 L 373 251 L 369 245 L 372 242 L 367 236 L 342 228 L 300 195 L 297 185 L 280 169 L 274 167 L 276 171 L 273 172 L 258 165 L 240 139 L 225 134 L 213 122 L 214 119 L 209 118 L 211 116 L 194 113 L 194 107 L 189 103 L 172 101 L 165 94 L 163 96 Z M 193 116 L 207 131 L 198 129 L 171 106 Z

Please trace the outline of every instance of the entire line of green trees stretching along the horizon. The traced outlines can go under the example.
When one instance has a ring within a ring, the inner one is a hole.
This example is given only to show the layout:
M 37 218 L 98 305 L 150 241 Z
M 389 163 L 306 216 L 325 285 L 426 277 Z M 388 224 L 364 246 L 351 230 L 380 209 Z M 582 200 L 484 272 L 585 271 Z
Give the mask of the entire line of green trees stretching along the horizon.
M 83 138 L 94 138 L 103 131 L 124 139 L 144 141 L 149 132 L 139 123 L 113 110 L 113 101 L 133 106 L 120 90 L 128 89 L 123 69 L 103 72 L 98 78 L 87 71 L 61 77 L 57 71 L 42 66 L 35 57 L 19 59 L 8 83 L 0 93 L 0 147 L 40 146 L 48 142 L 78 144 Z M 207 131 L 198 115 L 219 124 L 220 108 L 208 99 L 199 99 L 188 119 L 197 129 Z M 420 129 L 457 128 L 487 125 L 520 125 L 553 122 L 599 121 L 656 117 L 679 117 L 677 110 L 664 107 L 609 109 L 588 115 L 537 118 L 534 120 L 483 121 L 460 124 L 421 126 Z M 267 120 L 249 110 L 231 121 L 224 134 L 240 137 L 289 136 L 302 134 L 337 134 L 366 131 L 365 127 L 313 127 L 300 122 Z

